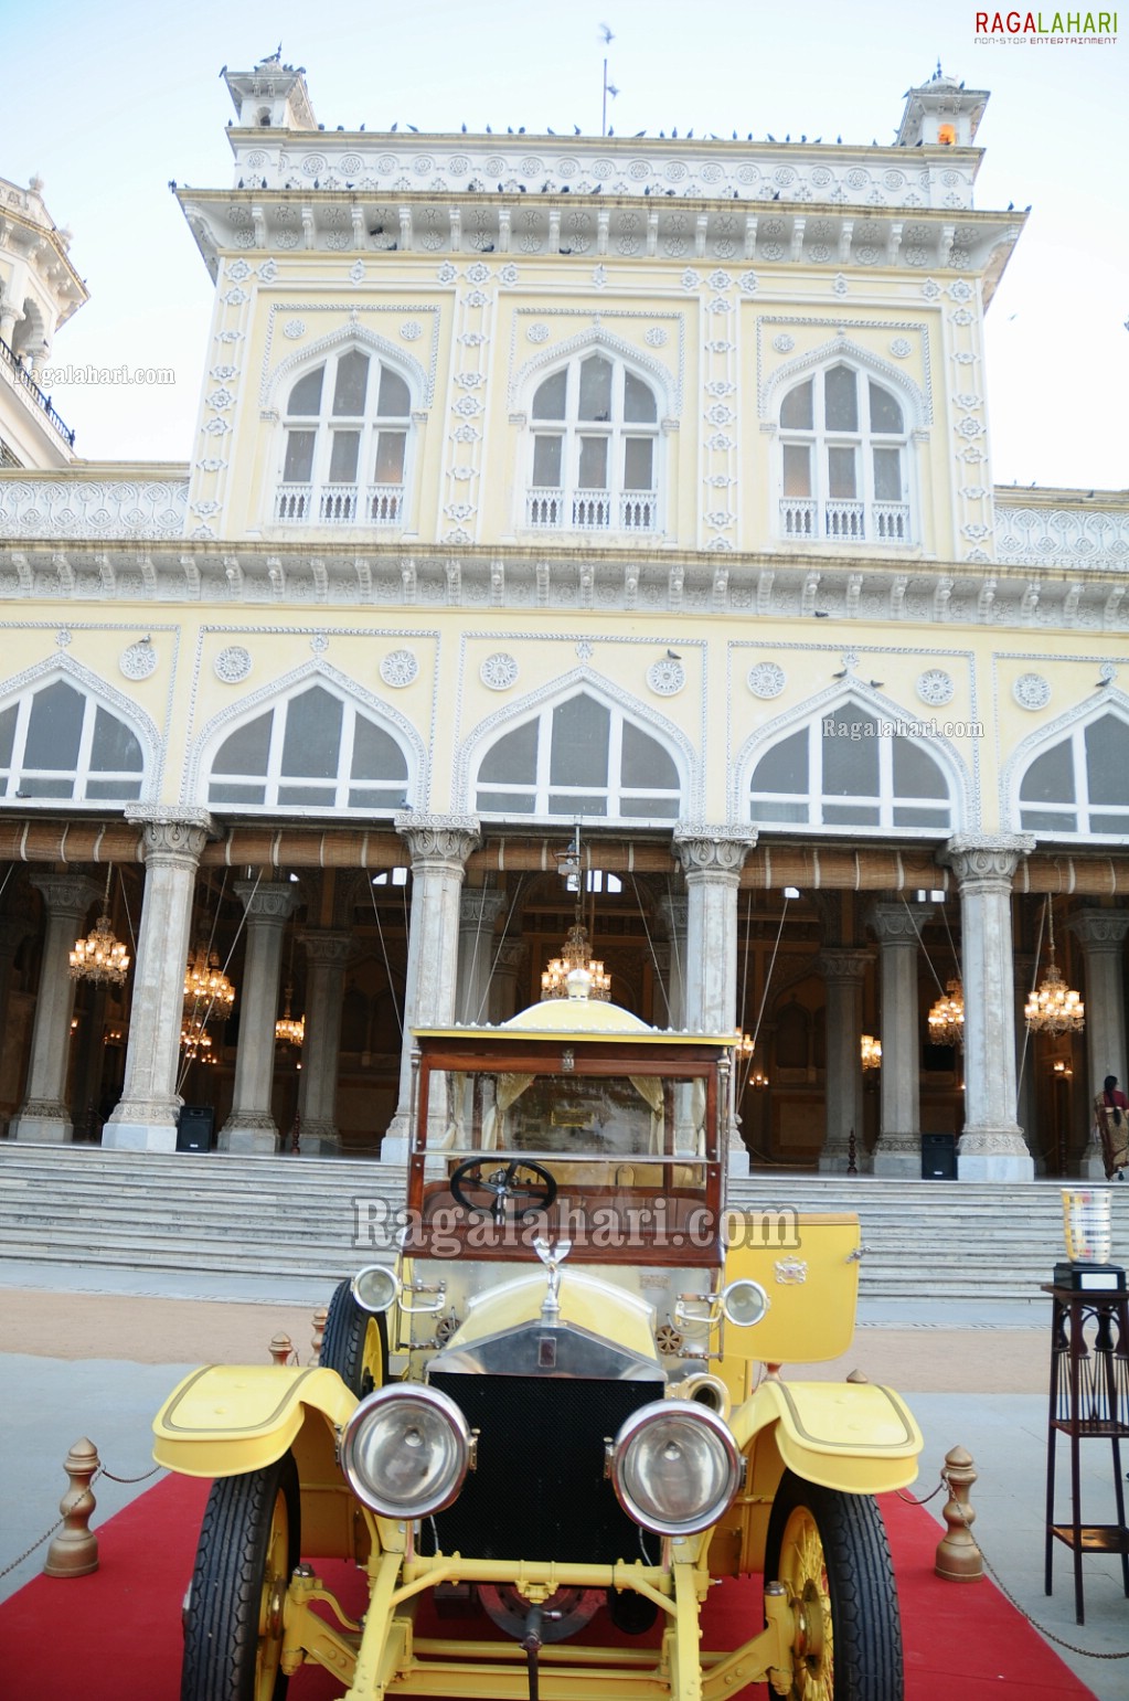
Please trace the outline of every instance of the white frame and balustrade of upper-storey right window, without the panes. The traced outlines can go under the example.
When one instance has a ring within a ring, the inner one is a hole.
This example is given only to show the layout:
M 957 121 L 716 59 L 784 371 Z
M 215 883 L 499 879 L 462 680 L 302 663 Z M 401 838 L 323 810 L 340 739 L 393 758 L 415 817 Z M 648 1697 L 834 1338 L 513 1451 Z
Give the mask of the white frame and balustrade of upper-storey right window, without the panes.
M 854 374 L 859 403 L 857 430 L 830 430 L 826 427 L 825 383 L 828 373 L 843 367 Z M 811 383 L 811 429 L 784 425 L 782 412 L 787 398 L 803 384 Z M 901 408 L 899 432 L 876 432 L 871 427 L 871 384 L 884 390 Z M 889 381 L 877 378 L 857 361 L 837 357 L 813 371 L 796 376 L 782 390 L 777 401 L 777 524 L 775 531 L 786 543 L 803 543 L 806 548 L 847 544 L 852 548 L 908 549 L 916 544 L 915 514 L 915 459 L 911 454 L 913 430 L 908 398 Z M 808 497 L 789 497 L 784 490 L 784 451 L 808 449 L 811 490 Z M 830 451 L 855 451 L 855 495 L 831 497 Z M 901 498 L 877 497 L 874 492 L 874 451 L 898 449 L 901 469 Z

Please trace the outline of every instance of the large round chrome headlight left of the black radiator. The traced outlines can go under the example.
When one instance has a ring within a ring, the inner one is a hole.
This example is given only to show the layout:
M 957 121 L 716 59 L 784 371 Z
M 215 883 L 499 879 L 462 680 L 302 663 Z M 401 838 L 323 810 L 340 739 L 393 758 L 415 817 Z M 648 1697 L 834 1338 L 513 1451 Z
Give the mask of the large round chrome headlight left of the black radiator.
M 437 1388 L 396 1383 L 362 1400 L 345 1425 L 342 1466 L 354 1493 L 411 1521 L 451 1505 L 471 1463 L 471 1431 Z

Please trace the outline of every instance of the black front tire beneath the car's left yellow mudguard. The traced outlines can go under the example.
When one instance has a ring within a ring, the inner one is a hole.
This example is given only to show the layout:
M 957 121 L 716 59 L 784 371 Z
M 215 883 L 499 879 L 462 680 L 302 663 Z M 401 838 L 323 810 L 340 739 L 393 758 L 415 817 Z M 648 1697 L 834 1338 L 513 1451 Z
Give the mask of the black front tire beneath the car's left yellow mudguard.
M 289 1453 L 213 1483 L 184 1618 L 180 1701 L 282 1701 L 282 1601 L 298 1555 Z

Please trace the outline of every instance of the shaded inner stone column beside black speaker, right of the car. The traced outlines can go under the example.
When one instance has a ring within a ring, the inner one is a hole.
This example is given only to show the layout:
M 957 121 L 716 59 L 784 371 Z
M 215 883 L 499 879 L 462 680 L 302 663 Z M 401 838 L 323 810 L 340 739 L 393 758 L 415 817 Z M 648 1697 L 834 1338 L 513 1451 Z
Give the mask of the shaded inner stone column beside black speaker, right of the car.
M 922 1034 L 918 1014 L 918 929 L 933 912 L 905 903 L 876 903 L 882 1010 L 882 1087 L 876 1175 L 922 1177 Z

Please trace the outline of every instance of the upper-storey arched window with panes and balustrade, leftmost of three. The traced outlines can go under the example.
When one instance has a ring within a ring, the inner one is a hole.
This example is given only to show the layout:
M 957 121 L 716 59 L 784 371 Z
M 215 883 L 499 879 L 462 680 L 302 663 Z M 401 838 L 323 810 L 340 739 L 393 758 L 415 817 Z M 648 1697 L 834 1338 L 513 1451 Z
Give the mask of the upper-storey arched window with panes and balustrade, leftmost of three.
M 391 366 L 343 349 L 286 398 L 274 517 L 287 526 L 400 526 L 411 395 Z

